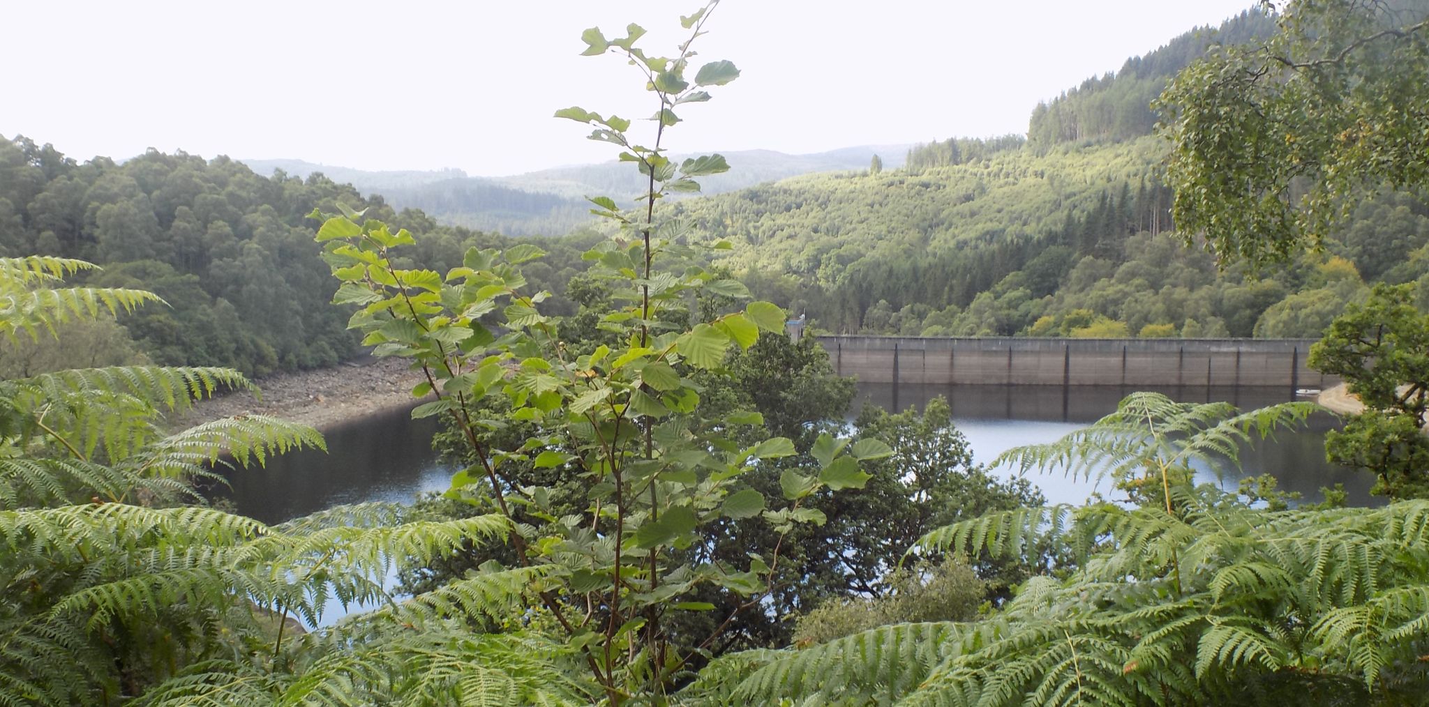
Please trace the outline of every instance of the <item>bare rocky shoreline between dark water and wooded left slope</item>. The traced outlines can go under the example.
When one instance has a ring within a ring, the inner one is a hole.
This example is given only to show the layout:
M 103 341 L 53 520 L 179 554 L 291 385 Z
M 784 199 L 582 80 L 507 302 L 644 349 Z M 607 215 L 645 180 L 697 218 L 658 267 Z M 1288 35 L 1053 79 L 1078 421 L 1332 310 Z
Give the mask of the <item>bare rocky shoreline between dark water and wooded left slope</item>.
M 203 400 L 174 420 L 189 427 L 236 414 L 264 414 L 329 430 L 373 413 L 419 403 L 412 388 L 423 380 L 406 360 L 379 358 L 330 368 L 280 373 L 253 383 L 259 393 L 231 391 Z

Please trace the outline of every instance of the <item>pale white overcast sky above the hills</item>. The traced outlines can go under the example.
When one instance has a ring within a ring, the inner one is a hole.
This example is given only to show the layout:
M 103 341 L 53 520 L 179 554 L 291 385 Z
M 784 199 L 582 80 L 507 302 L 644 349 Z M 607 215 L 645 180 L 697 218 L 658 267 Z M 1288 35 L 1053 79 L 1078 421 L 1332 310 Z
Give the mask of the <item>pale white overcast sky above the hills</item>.
M 1252 0 L 725 0 L 696 66 L 739 80 L 689 106 L 679 153 L 1026 133 L 1037 101 L 1115 71 Z M 616 56 L 583 57 L 582 30 L 644 27 L 667 56 L 697 0 L 402 3 L 19 1 L 4 9 L 10 89 L 0 136 L 84 161 L 149 147 L 473 176 L 613 159 L 580 106 L 637 119 L 657 103 Z M 632 131 L 650 129 L 637 123 Z M 640 133 L 637 133 L 640 134 Z M 649 141 L 649 139 L 646 140 Z

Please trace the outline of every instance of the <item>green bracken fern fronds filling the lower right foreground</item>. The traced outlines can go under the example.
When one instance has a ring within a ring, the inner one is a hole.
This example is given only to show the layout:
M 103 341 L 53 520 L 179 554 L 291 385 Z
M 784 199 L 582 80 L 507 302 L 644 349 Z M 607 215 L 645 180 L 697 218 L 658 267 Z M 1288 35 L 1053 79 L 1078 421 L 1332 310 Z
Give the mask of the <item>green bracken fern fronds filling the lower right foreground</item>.
M 1116 476 L 1219 453 L 1295 414 L 1139 394 L 1009 458 Z M 1170 428 L 1185 437 L 1163 437 Z M 1167 490 L 1166 506 L 1019 508 L 939 528 L 922 551 L 1022 557 L 1052 544 L 1076 568 L 1029 580 L 982 621 L 732 654 L 684 694 L 796 704 L 1409 704 L 1423 694 L 1429 506 L 1266 511 L 1210 486 Z

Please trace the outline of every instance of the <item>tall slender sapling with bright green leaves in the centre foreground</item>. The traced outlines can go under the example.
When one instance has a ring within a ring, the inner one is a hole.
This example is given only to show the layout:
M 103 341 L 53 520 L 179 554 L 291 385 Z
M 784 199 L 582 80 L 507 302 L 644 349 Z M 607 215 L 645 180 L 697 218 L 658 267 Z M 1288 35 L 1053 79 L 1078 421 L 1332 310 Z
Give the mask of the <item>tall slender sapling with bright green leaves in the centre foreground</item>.
M 646 180 L 634 210 L 590 199 L 619 230 L 583 256 L 620 303 L 597 324 L 617 334 L 613 346 L 573 350 L 559 323 L 540 311 L 550 293 L 530 287 L 520 267 L 544 256 L 540 247 L 472 247 L 443 274 L 404 267 L 403 249 L 416 246 L 404 229 L 344 204 L 337 204 L 342 214 L 313 214 L 323 221 L 324 260 L 342 283 L 333 301 L 357 307 L 349 326 L 376 356 L 410 358 L 423 371 L 426 383 L 413 393 L 436 400 L 413 416 L 450 418 L 476 460 L 453 477 L 447 496 L 504 518 L 514 561 L 489 568 L 540 578 L 532 611 L 579 656 L 582 680 L 614 706 L 632 697 L 663 701 L 737 614 L 757 611 L 783 588 L 776 584 L 789 571 L 783 543 L 767 553 L 712 556 L 725 527 L 760 518 L 783 538 L 823 524 L 827 516 L 813 506 L 862 488 L 870 474 L 860 464 L 892 454 L 876 440 L 820 434 L 810 464 L 782 466 L 777 460 L 799 454 L 792 440 L 746 444 L 739 434 L 762 423 L 759 413 L 702 414 L 704 386 L 696 377 L 717 376 L 732 347 L 747 350 L 762 331 L 780 336 L 785 323 L 766 301 L 732 311 L 690 307 L 687 299 L 700 293 L 736 303 L 750 296 L 692 263 L 692 249 L 679 239 L 684 227 L 654 209 L 674 191 L 697 191 L 697 177 L 729 169 L 717 154 L 680 163 L 664 154 L 664 136 L 680 123 L 676 110 L 739 77 L 730 61 L 699 70 L 690 63 L 716 6 L 682 19 L 689 39 L 673 57 L 637 47 L 644 30 L 636 24 L 623 37 L 599 29 L 582 34 L 584 54 L 613 53 L 640 71 L 656 104 L 653 140 L 637 140 L 632 121 L 614 114 L 556 111 L 592 127 L 590 139 L 619 146 L 622 160 L 636 163 Z M 536 433 L 513 447 L 490 444 L 484 433 L 512 421 Z M 772 468 L 780 468 L 776 493 L 746 481 Z M 546 486 L 527 470 L 560 470 L 573 484 Z M 574 513 L 553 503 L 570 486 Z M 732 606 L 707 631 L 684 636 L 680 613 L 719 608 L 702 591 L 733 597 Z

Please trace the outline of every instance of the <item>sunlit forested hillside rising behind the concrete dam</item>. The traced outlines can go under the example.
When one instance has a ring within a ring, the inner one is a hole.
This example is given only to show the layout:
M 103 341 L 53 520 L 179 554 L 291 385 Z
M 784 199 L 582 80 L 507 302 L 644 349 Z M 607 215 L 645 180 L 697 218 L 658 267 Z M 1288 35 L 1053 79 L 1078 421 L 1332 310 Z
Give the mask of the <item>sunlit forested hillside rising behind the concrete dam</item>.
M 1319 336 L 1366 281 L 1429 273 L 1426 201 L 1360 200 L 1325 253 L 1222 270 L 1172 233 L 1167 144 L 1152 136 L 1149 103 L 1170 76 L 1212 44 L 1273 29 L 1248 11 L 1182 34 L 1037 106 L 1026 140 L 935 141 L 902 170 L 810 174 L 670 209 L 730 240 L 723 264 L 757 296 L 837 333 Z

